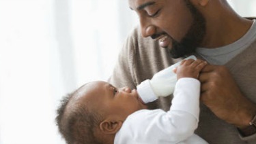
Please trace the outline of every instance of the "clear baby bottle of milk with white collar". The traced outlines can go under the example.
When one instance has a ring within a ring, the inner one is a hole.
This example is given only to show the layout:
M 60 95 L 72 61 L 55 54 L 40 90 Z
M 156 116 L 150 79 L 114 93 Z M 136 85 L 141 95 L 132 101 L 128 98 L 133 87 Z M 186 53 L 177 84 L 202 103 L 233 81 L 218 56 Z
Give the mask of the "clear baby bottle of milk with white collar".
M 195 56 L 188 56 L 185 60 L 197 58 Z M 180 65 L 180 62 L 159 71 L 154 74 L 152 79 L 146 79 L 137 86 L 137 92 L 144 103 L 155 101 L 158 96 L 169 96 L 173 94 L 175 84 L 177 82 L 177 75 L 173 69 Z

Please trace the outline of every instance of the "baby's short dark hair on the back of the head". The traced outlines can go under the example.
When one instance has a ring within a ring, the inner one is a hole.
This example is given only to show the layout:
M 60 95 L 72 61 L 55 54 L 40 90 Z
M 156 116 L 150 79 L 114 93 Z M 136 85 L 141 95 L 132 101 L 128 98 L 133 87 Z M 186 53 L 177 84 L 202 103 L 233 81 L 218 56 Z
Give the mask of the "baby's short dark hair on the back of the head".
M 61 105 L 57 109 L 56 123 L 61 136 L 69 144 L 100 144 L 100 139 L 95 136 L 95 129 L 100 124 L 101 117 L 96 111 L 89 111 L 86 104 L 68 102 L 76 95 L 76 92 L 67 94 L 61 99 Z

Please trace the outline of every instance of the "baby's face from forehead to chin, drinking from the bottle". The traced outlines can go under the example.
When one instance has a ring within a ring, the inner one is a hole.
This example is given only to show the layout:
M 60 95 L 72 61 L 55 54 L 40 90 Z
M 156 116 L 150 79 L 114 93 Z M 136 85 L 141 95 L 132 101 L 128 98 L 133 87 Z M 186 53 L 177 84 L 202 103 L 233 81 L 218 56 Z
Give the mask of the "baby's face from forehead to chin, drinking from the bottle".
M 141 103 L 137 90 L 117 89 L 106 82 L 91 82 L 85 89 L 87 92 L 82 101 L 90 101 L 94 109 L 99 109 L 103 115 L 125 120 L 131 113 L 147 108 Z

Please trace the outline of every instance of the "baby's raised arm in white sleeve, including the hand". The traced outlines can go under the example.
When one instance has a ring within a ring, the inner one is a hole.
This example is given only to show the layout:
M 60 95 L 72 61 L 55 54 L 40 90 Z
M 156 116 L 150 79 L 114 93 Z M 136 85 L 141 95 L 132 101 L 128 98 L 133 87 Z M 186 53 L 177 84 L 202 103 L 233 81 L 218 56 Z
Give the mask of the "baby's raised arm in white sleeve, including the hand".
M 190 137 L 199 122 L 200 82 L 197 80 L 203 67 L 203 60 L 183 60 L 177 67 L 177 84 L 173 94 L 171 109 L 168 112 L 175 128 L 173 141 L 184 141 Z

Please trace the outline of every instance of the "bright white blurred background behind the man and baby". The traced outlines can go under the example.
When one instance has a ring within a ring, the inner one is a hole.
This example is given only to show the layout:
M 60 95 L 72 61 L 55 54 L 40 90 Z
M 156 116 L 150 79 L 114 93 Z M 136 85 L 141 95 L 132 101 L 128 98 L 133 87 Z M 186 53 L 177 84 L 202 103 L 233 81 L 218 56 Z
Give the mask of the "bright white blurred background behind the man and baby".
M 256 0 L 230 0 L 256 16 Z M 63 144 L 59 99 L 106 80 L 138 24 L 127 0 L 0 0 L 0 143 Z

